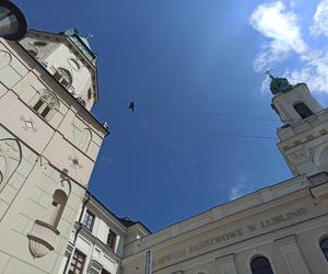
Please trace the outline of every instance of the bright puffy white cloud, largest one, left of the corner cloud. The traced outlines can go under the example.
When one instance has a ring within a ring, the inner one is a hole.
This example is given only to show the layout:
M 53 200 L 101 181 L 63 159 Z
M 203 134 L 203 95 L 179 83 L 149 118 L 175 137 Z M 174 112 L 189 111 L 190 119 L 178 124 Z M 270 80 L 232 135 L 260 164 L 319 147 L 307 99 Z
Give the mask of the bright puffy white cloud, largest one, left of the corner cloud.
M 297 25 L 297 16 L 286 12 L 282 1 L 260 4 L 250 15 L 251 26 L 270 39 L 266 52 L 257 55 L 254 61 L 256 71 L 262 71 L 268 65 L 279 61 L 290 53 L 303 54 L 307 45 L 303 41 Z

